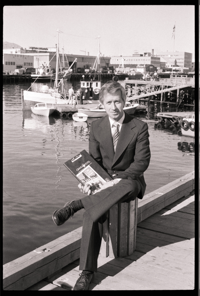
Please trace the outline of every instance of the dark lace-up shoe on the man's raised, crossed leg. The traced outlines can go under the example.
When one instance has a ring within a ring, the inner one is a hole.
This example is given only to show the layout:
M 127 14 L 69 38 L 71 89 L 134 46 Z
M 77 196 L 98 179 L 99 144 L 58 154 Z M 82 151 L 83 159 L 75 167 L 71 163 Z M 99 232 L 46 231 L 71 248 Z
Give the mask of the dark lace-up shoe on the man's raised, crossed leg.
M 64 207 L 60 210 L 55 210 L 52 215 L 53 222 L 60 226 L 65 223 L 69 219 L 69 217 L 74 215 L 74 210 L 72 208 L 72 201 L 67 202 Z

